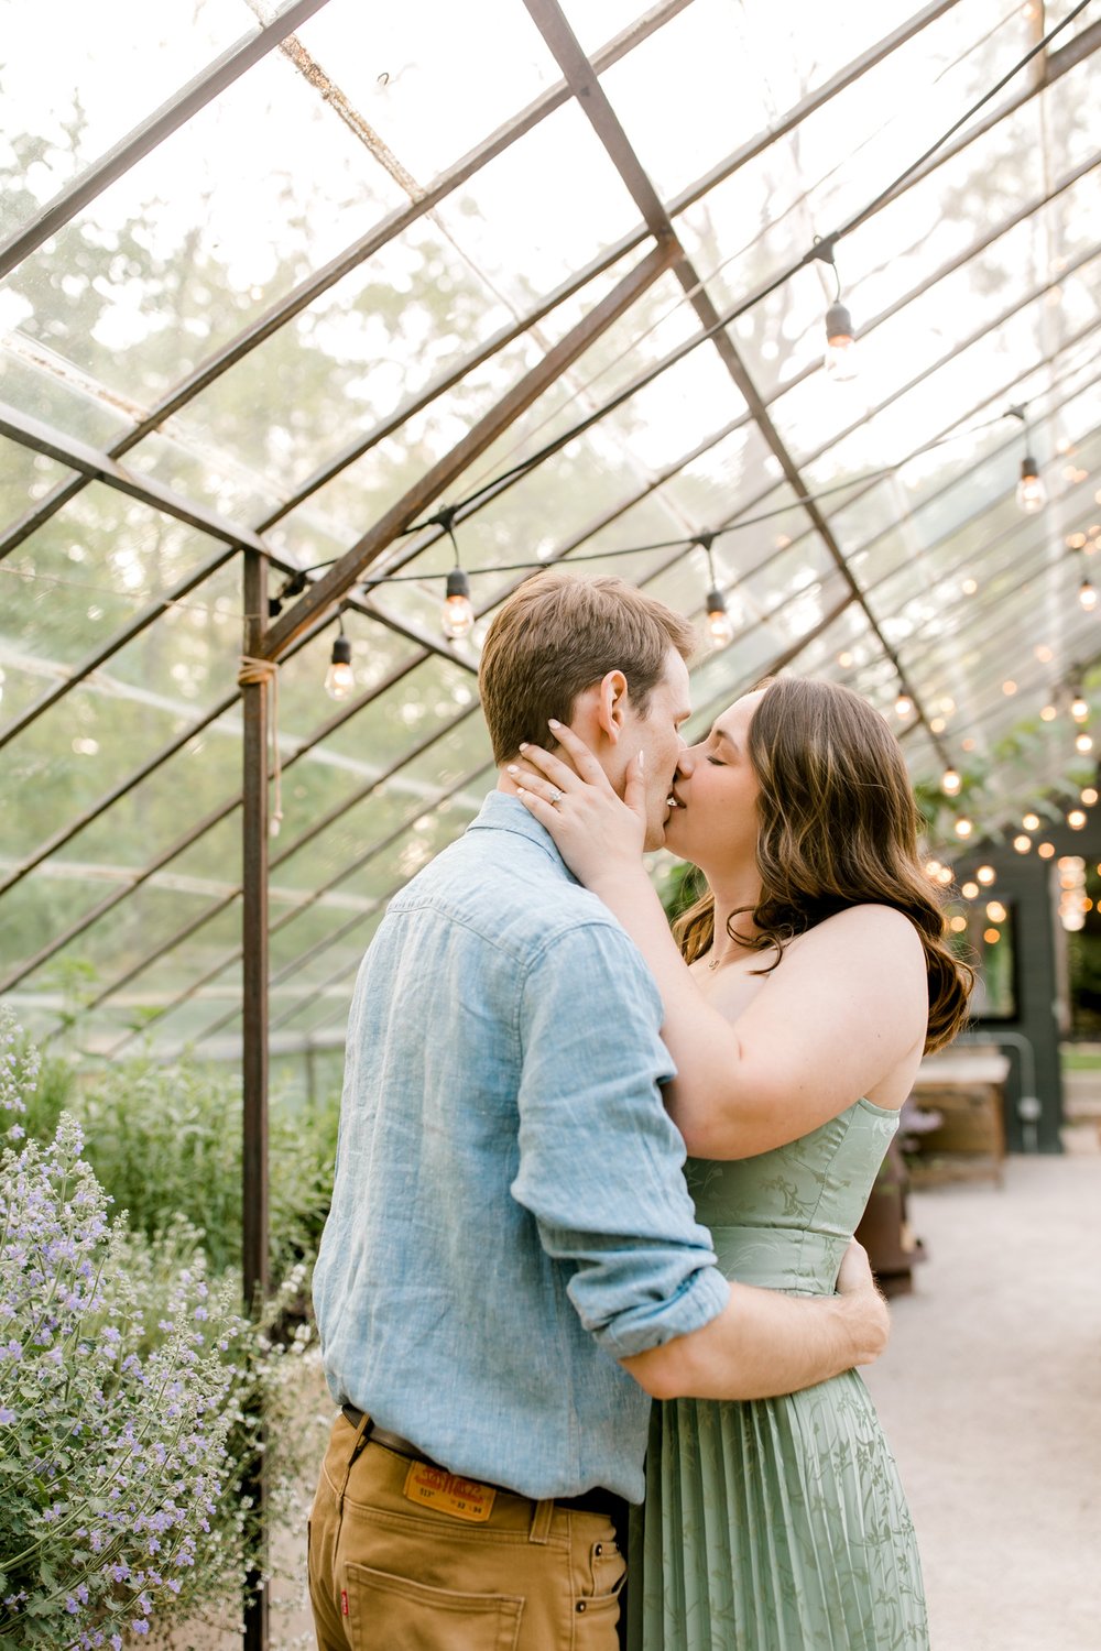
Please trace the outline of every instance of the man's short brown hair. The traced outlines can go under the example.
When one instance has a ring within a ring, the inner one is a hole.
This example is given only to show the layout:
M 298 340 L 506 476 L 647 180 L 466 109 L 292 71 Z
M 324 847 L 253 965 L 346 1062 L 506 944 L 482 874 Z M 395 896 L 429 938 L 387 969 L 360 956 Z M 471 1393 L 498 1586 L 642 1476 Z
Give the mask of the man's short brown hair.
M 609 670 L 622 670 L 645 715 L 670 647 L 687 660 L 695 642 L 687 619 L 624 580 L 565 570 L 525 580 L 495 614 L 479 670 L 497 763 L 522 741 L 553 746 L 548 720 L 568 723 L 578 695 Z

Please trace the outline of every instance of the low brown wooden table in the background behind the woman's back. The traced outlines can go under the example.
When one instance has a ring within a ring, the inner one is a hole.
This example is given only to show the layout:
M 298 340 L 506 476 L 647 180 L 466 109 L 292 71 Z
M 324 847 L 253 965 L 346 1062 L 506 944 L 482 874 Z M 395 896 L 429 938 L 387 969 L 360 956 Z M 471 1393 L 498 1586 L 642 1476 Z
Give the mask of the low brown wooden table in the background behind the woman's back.
M 999 1050 L 949 1050 L 921 1062 L 910 1100 L 923 1113 L 939 1113 L 941 1123 L 906 1142 L 914 1187 L 974 1176 L 1002 1185 L 1007 1076 L 1009 1057 Z

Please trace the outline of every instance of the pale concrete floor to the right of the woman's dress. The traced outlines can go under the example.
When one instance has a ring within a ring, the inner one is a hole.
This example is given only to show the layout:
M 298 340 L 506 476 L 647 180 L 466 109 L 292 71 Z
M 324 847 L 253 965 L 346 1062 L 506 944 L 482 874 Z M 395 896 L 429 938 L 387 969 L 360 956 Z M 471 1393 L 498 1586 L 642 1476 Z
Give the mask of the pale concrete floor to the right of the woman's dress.
M 911 1194 L 928 1260 L 865 1372 L 933 1651 L 1101 1651 L 1101 1152 Z

